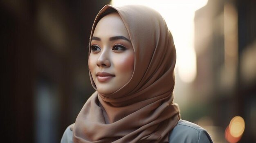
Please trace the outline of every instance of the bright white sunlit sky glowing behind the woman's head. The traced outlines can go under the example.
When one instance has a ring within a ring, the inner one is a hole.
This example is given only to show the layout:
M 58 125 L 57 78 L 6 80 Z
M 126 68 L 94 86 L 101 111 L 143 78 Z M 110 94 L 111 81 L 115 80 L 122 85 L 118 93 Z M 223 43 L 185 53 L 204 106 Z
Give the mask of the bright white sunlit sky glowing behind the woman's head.
M 207 2 L 208 0 L 112 0 L 111 4 L 141 4 L 161 13 L 174 37 L 178 75 L 183 82 L 192 82 L 196 76 L 194 13 Z

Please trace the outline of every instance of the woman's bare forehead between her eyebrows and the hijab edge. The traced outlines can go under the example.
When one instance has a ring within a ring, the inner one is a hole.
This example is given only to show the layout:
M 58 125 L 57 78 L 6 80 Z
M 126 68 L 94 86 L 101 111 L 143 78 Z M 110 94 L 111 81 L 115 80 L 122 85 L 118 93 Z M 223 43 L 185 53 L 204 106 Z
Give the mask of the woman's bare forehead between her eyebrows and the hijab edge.
M 118 13 L 110 13 L 101 18 L 93 33 L 93 36 L 97 37 L 117 35 L 122 35 L 130 39 L 126 26 Z

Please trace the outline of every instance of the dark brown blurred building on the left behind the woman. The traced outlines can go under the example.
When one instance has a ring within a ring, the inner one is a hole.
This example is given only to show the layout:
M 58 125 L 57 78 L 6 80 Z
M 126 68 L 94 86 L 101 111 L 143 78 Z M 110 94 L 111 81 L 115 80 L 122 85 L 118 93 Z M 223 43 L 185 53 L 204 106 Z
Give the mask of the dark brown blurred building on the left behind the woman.
M 1 142 L 60 142 L 93 92 L 89 35 L 109 2 L 1 0 Z

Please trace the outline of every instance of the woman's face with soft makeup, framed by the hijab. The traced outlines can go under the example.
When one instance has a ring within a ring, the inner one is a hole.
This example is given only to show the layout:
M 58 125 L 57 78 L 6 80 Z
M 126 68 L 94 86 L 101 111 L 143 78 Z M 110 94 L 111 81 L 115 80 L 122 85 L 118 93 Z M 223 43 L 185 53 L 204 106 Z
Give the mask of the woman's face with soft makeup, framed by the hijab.
M 134 50 L 128 31 L 117 13 L 99 20 L 89 56 L 89 69 L 100 94 L 111 94 L 132 77 Z

